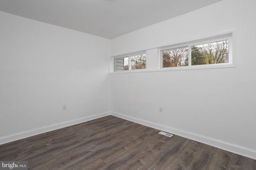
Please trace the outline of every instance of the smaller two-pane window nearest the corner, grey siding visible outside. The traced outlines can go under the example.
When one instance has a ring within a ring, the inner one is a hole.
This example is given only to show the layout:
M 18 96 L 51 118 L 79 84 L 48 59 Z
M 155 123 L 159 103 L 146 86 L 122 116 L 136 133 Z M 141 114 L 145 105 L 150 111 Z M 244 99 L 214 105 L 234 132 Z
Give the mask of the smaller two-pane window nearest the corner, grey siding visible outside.
M 137 70 L 146 68 L 146 54 L 131 55 L 115 59 L 115 71 Z

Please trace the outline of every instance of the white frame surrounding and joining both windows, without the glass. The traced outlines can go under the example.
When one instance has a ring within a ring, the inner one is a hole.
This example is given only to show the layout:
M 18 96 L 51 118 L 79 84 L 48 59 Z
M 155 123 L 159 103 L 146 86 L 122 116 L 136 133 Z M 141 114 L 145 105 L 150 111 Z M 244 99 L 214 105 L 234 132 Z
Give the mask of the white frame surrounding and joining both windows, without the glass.
M 163 50 L 174 49 L 184 46 L 193 46 L 201 45 L 204 43 L 222 41 L 228 39 L 228 63 L 218 63 L 218 64 L 202 64 L 202 65 L 191 65 L 191 48 L 188 48 L 188 66 L 178 66 L 178 67 L 165 67 L 162 68 L 162 53 Z M 162 47 L 154 47 L 144 51 L 138 51 L 134 53 L 128 53 L 124 55 L 116 55 L 110 57 L 110 74 L 118 73 L 130 73 L 130 72 L 158 72 L 158 71 L 176 71 L 176 70 L 196 70 L 196 69 L 208 69 L 208 68 L 229 68 L 236 67 L 236 49 L 237 49 L 237 31 L 236 29 L 231 29 L 227 31 L 222 31 L 219 33 L 214 33 L 209 36 L 204 35 L 199 37 L 198 40 L 189 41 L 180 41 L 182 43 L 176 43 L 172 45 L 166 45 Z M 124 71 L 115 71 L 115 59 L 120 57 L 128 57 L 134 55 L 146 54 L 146 69 L 137 69 L 137 70 L 124 70 Z

